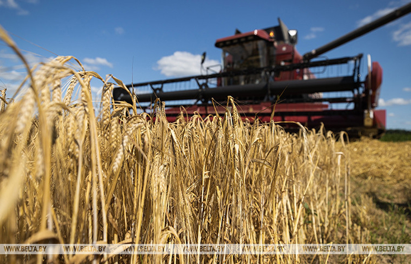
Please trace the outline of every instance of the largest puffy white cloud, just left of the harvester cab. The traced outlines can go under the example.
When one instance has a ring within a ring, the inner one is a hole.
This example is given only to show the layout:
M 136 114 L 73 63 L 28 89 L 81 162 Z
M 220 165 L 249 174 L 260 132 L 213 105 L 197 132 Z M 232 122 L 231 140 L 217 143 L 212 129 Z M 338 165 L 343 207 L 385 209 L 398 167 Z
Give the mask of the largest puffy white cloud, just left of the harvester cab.
M 158 66 L 155 70 L 160 70 L 161 74 L 168 77 L 199 75 L 201 73 L 200 63 L 201 55 L 194 55 L 186 51 L 176 51 L 173 55 L 162 57 L 157 61 Z M 206 59 L 203 65 L 206 68 L 215 64 L 220 64 L 220 62 Z

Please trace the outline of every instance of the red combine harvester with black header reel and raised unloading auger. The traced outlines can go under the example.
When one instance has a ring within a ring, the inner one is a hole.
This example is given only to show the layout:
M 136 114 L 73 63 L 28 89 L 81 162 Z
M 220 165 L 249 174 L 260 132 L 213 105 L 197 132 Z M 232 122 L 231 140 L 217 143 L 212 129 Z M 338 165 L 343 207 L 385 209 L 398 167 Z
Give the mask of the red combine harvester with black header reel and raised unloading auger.
M 319 56 L 410 12 L 411 3 L 303 56 L 295 48 L 297 30 L 289 30 L 280 19 L 278 26 L 247 33 L 236 30 L 235 35 L 215 43 L 223 50 L 223 65 L 214 65 L 219 69 L 211 66 L 205 75 L 126 87 L 136 93 L 143 110 L 150 109 L 157 98 L 166 102 L 170 122 L 182 109 L 187 115 L 197 112 L 206 116 L 215 111 L 224 114 L 225 108 L 218 105 L 225 105 L 231 96 L 240 102 L 240 114 L 251 121 L 274 119 L 284 122 L 286 128 L 293 126 L 288 121 L 310 128 L 323 123 L 328 130 L 378 136 L 385 131 L 386 123 L 386 111 L 375 109 L 382 82 L 380 64 L 367 56 L 368 74 L 361 80 L 363 54 L 332 60 Z M 204 69 L 205 54 L 202 59 Z M 348 74 L 340 73 L 342 65 L 346 65 Z M 332 77 L 323 77 L 331 70 L 335 71 Z M 114 88 L 113 95 L 115 101 L 132 103 L 130 94 L 121 87 Z

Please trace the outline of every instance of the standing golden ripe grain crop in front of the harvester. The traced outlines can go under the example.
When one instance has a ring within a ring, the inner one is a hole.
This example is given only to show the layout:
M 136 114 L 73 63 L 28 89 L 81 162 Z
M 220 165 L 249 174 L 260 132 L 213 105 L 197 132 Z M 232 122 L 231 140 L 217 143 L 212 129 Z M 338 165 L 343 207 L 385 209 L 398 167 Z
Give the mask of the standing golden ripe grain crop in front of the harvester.
M 322 130 L 301 126 L 290 134 L 274 122 L 243 122 L 232 98 L 224 116 L 169 123 L 162 102 L 141 114 L 136 97 L 133 105 L 113 102 L 120 80 L 76 68 L 82 64 L 72 57 L 27 66 L 19 97 L 1 93 L 0 244 L 367 241 L 367 230 L 351 221 L 344 133 L 337 142 Z M 103 87 L 101 98 L 91 96 L 92 79 Z M 331 260 L 373 261 L 360 255 L 0 256 L 3 263 Z

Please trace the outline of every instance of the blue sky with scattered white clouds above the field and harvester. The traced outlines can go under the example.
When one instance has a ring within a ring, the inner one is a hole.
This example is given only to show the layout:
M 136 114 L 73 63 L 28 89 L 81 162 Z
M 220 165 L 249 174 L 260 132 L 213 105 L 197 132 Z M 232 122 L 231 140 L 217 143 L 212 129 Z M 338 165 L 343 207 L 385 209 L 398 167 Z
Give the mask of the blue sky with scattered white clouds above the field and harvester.
M 298 30 L 304 54 L 407 2 L 0 0 L 0 24 L 32 63 L 71 55 L 103 78 L 131 83 L 199 74 L 201 54 L 219 63 L 215 40 L 236 28 L 266 28 L 280 17 Z M 325 55 L 359 53 L 383 67 L 379 108 L 387 109 L 388 128 L 411 130 L 411 14 Z M 22 77 L 21 62 L 0 41 L 0 86 L 11 96 Z

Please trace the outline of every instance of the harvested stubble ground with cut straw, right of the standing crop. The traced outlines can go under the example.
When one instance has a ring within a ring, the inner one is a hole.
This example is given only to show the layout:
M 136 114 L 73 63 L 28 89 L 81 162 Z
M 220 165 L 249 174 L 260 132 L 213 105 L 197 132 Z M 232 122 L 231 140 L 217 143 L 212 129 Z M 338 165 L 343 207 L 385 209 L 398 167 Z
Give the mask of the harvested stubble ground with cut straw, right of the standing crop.
M 352 221 L 369 243 L 411 243 L 411 141 L 361 139 L 349 144 Z M 409 263 L 410 256 L 375 256 L 378 263 Z

